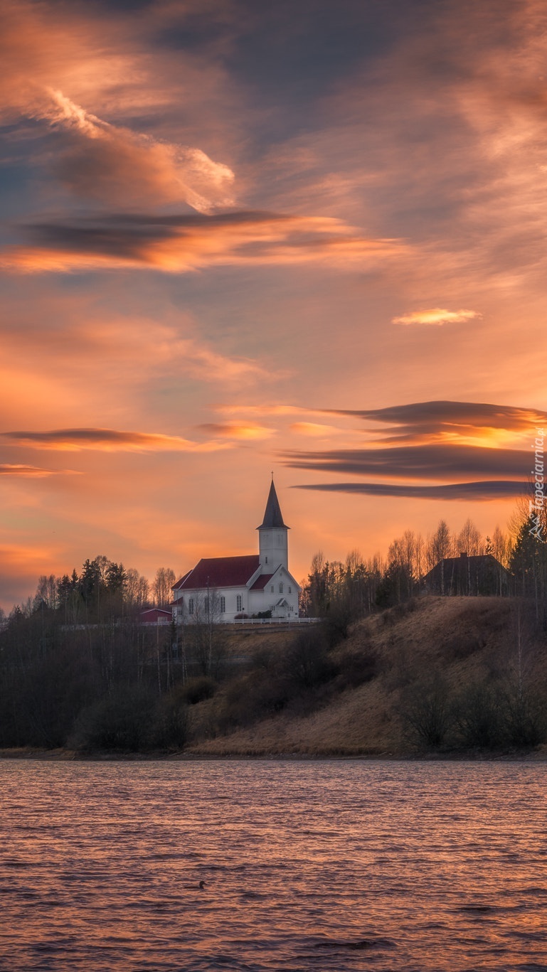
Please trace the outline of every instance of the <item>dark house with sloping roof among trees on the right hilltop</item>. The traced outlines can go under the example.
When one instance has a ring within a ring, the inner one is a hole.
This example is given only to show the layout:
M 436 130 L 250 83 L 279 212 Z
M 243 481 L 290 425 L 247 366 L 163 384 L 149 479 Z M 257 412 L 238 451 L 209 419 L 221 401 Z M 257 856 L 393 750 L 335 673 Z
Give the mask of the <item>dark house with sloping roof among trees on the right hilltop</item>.
M 469 557 L 445 557 L 426 574 L 424 586 L 429 594 L 453 597 L 470 595 L 507 595 L 511 574 L 491 553 Z

